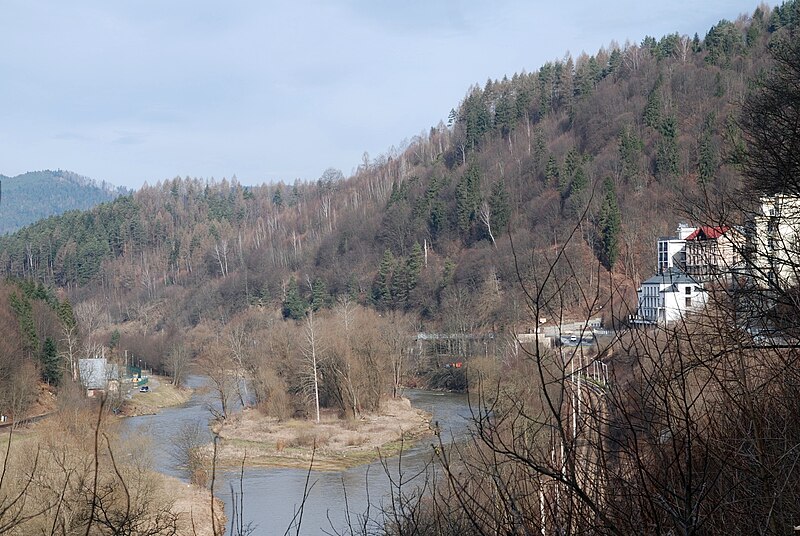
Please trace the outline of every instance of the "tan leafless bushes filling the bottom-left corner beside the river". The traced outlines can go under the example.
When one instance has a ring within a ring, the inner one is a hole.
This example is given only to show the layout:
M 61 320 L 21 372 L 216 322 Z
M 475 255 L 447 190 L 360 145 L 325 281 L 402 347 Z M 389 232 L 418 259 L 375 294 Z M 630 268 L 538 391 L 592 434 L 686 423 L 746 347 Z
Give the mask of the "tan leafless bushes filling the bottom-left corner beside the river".
M 9 429 L 0 473 L 0 532 L 100 535 L 191 534 L 146 448 L 123 444 L 107 408 L 72 406 L 40 424 L 32 444 Z M 179 532 L 180 531 L 180 532 Z

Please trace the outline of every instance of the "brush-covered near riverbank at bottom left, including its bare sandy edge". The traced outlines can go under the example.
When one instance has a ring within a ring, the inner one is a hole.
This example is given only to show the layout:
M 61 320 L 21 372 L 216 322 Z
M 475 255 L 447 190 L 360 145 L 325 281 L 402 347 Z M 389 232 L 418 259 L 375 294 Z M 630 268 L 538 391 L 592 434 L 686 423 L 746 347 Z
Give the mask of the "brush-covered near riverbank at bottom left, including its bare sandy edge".
M 20 534 L 49 533 L 55 526 L 53 516 L 86 514 L 87 497 L 91 495 L 76 483 L 91 482 L 94 477 L 92 441 L 96 417 L 91 411 L 68 411 L 61 417 L 20 426 L 13 434 L 9 429 L 0 435 L 0 450 L 5 453 L 8 449 L 2 492 L 11 496 L 20 494 L 22 498 L 19 512 L 25 515 L 20 516 L 22 520 L 17 527 Z M 214 500 L 216 523 L 212 524 L 208 489 L 151 470 L 146 448 L 120 441 L 113 427 L 113 422 L 101 425 L 106 441 L 100 451 L 101 489 L 120 490 L 122 479 L 133 501 L 134 515 L 139 516 L 137 519 L 142 526 L 163 524 L 175 516 L 176 536 L 222 534 L 226 517 L 224 502 L 219 497 Z M 21 487 L 31 472 L 36 475 L 34 488 Z M 103 493 L 103 500 L 109 501 L 106 507 L 110 507 L 112 517 L 121 515 L 119 508 L 124 508 L 124 503 L 115 502 L 120 497 L 108 491 Z M 61 512 L 52 508 L 56 501 L 65 503 Z M 217 530 L 214 530 L 215 525 Z

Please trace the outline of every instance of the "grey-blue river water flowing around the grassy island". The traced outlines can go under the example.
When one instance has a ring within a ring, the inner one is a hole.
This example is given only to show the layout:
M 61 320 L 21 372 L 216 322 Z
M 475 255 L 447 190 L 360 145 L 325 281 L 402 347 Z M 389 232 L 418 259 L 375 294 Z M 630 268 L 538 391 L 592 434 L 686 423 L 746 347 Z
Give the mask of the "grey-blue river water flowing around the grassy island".
M 199 388 L 204 379 L 191 376 L 187 383 Z M 420 390 L 406 390 L 404 395 L 415 407 L 433 415 L 445 443 L 467 435 L 470 412 L 466 395 Z M 155 469 L 186 480 L 170 454 L 170 445 L 187 423 L 208 422 L 210 403 L 209 395 L 197 392 L 183 406 L 162 410 L 157 415 L 126 419 L 123 433 L 149 436 L 153 445 L 161 446 L 153 449 Z M 423 439 L 402 458 L 389 459 L 385 464 L 375 462 L 340 472 L 314 471 L 309 476 L 308 471 L 301 469 L 246 467 L 241 482 L 238 471 L 223 472 L 218 475 L 215 491 L 225 501 L 229 519 L 234 515 L 234 502 L 241 506 L 243 524 L 251 524 L 255 528 L 253 534 L 284 534 L 297 522 L 308 479 L 299 534 L 349 534 L 348 524 L 362 524 L 367 514 L 373 520 L 380 520 L 381 509 L 390 504 L 392 481 L 397 482 L 401 476 L 405 482 L 424 471 L 433 458 L 434 441 L 438 442 L 433 437 Z M 423 479 L 424 475 L 416 478 L 403 492 L 408 493 Z M 375 528 L 374 524 L 371 526 Z M 292 528 L 289 533 L 296 534 L 297 529 Z

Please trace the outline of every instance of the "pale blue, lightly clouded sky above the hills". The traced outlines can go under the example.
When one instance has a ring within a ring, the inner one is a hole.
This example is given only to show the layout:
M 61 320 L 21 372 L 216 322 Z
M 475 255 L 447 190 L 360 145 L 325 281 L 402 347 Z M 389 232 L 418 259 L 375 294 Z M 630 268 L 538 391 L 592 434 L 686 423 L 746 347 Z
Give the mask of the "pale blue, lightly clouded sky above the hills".
M 349 175 L 468 88 L 756 1 L 0 0 L 0 174 Z

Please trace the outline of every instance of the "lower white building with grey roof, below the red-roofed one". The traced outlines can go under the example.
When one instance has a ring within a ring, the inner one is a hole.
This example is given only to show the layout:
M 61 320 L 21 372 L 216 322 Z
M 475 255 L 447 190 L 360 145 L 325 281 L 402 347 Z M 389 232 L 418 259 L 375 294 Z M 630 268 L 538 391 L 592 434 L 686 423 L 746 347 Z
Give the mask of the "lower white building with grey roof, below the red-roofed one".
M 656 274 L 639 287 L 636 324 L 670 324 L 702 309 L 707 295 L 702 283 L 675 268 Z

